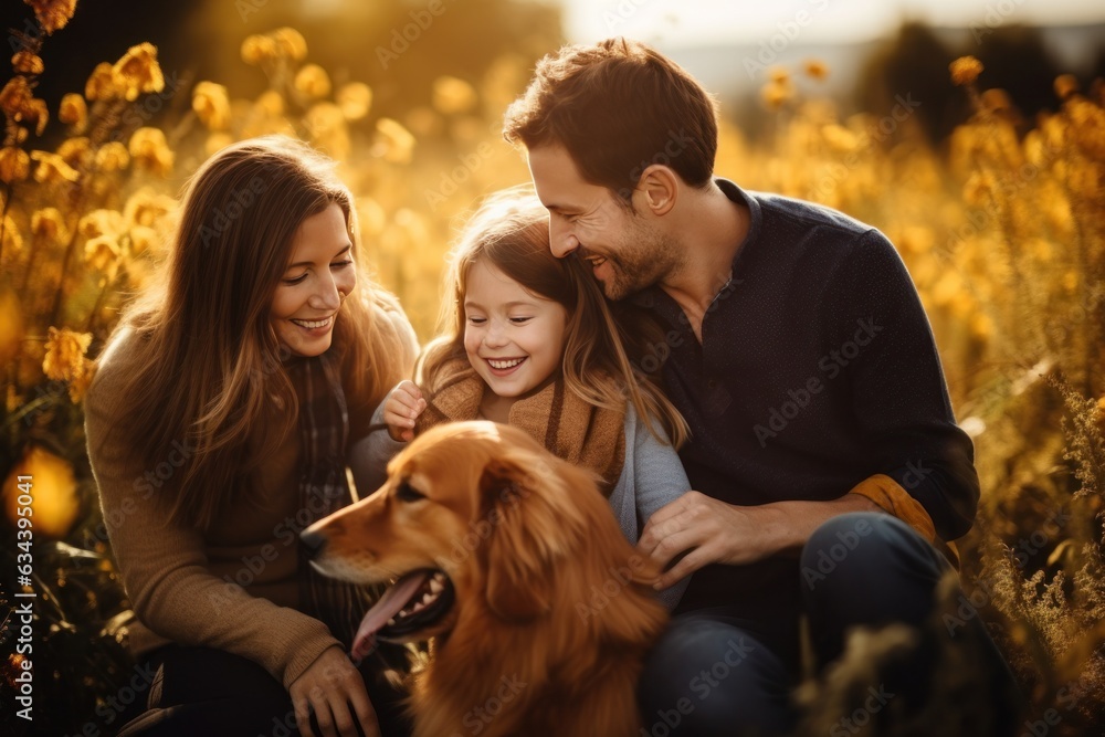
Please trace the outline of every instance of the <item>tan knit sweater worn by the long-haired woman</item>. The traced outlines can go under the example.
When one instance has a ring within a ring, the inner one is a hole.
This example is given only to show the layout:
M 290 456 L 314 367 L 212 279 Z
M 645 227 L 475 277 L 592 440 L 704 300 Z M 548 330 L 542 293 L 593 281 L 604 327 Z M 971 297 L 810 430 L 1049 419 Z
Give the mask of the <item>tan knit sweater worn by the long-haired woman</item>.
M 418 345 L 406 317 L 388 317 L 409 344 L 399 381 L 410 373 Z M 85 399 L 88 457 L 137 618 L 130 652 L 137 657 L 170 642 L 215 647 L 259 663 L 287 688 L 323 651 L 339 644 L 323 622 L 298 611 L 298 432 L 288 433 L 280 452 L 255 472 L 256 499 L 240 503 L 202 533 L 170 524 L 148 478 L 180 473 L 188 448 L 167 448 L 164 463 L 147 468 L 109 433 L 126 422 L 116 408 L 120 379 L 131 370 L 134 339 L 124 334 L 113 341 Z M 349 398 L 349 407 L 354 428 L 371 415 L 372 408 L 358 408 L 357 398 Z M 257 436 L 266 430 L 256 428 Z

